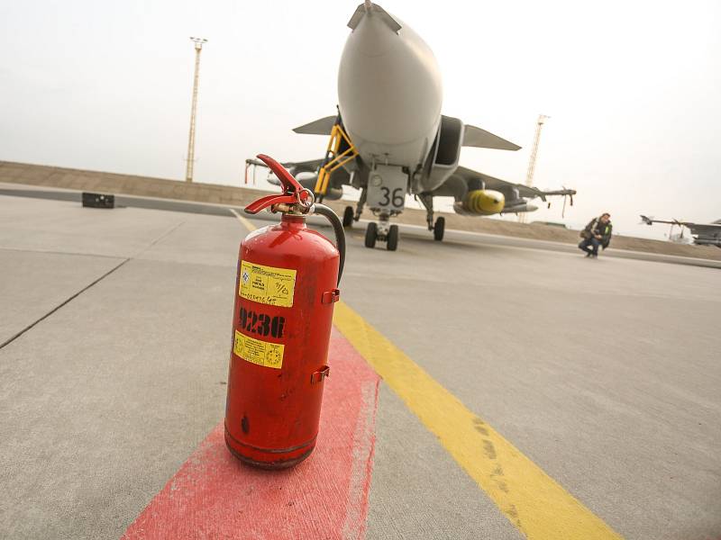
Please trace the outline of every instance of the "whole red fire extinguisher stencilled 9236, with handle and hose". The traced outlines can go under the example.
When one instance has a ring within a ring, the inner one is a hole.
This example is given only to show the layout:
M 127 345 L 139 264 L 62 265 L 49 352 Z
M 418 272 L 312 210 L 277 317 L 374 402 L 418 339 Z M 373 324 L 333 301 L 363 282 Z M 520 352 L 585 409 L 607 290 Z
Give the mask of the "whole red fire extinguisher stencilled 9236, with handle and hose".
M 282 214 L 243 239 L 235 286 L 225 443 L 244 463 L 278 469 L 315 447 L 333 322 L 345 259 L 341 220 L 272 157 L 282 194 L 249 204 Z M 306 228 L 306 215 L 333 225 L 336 244 Z

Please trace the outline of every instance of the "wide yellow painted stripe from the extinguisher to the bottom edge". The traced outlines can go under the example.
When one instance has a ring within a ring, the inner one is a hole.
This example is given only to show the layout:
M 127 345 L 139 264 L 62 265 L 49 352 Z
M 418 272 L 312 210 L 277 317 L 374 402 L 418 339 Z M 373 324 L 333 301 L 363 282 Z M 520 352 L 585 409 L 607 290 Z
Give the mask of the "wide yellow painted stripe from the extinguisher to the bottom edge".
M 527 538 L 621 538 L 343 302 L 333 323 Z

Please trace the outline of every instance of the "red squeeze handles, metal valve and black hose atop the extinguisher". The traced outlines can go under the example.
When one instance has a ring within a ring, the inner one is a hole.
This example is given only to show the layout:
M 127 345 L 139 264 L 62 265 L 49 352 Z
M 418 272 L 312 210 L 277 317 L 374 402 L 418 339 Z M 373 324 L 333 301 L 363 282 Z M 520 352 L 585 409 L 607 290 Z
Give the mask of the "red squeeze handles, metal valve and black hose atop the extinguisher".
M 265 154 L 259 154 L 258 158 L 269 166 L 269 169 L 278 177 L 283 193 L 261 197 L 258 201 L 251 202 L 246 206 L 245 212 L 256 214 L 264 208 L 268 208 L 271 212 L 282 212 L 284 215 L 290 216 L 317 214 L 330 221 L 335 234 L 335 247 L 341 255 L 338 263 L 338 284 L 340 284 L 343 266 L 345 266 L 345 231 L 341 220 L 331 208 L 315 202 L 313 192 L 298 184 L 293 175 L 278 161 Z

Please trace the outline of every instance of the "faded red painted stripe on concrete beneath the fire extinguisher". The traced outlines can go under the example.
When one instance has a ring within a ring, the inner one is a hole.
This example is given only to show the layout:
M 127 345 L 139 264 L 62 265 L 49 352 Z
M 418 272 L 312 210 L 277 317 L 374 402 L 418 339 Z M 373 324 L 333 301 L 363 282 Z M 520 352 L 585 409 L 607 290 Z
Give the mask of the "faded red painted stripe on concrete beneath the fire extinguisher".
M 261 471 L 225 447 L 223 422 L 135 519 L 123 540 L 363 538 L 379 376 L 333 329 L 315 451 Z

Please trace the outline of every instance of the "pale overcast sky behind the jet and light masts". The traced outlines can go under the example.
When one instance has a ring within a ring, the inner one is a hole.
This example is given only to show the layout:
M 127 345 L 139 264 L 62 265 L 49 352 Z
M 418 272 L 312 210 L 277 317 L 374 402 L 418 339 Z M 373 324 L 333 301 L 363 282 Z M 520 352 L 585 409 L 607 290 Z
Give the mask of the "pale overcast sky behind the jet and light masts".
M 259 152 L 322 157 L 291 128 L 333 114 L 357 0 L 0 0 L 0 159 L 181 179 L 202 36 L 196 181 L 239 185 Z M 464 148 L 461 164 L 579 191 L 566 221 L 610 211 L 721 218 L 721 2 L 380 3 L 443 73 L 443 112 L 524 148 Z M 513 220 L 514 217 L 504 219 Z M 561 220 L 561 201 L 531 220 Z

